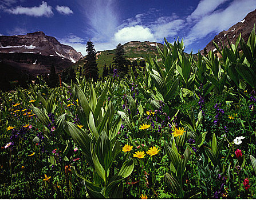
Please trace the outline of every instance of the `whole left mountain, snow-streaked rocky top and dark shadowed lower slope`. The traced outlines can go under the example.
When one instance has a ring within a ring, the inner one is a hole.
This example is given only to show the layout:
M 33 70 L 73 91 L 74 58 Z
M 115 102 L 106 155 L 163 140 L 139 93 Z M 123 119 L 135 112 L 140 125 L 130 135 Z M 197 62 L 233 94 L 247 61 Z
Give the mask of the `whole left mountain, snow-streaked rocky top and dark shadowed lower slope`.
M 45 35 L 42 31 L 0 36 L 0 70 L 9 81 L 15 81 L 24 75 L 36 77 L 49 73 L 51 65 L 58 72 L 72 66 L 80 58 L 81 53 L 62 45 L 56 38 Z

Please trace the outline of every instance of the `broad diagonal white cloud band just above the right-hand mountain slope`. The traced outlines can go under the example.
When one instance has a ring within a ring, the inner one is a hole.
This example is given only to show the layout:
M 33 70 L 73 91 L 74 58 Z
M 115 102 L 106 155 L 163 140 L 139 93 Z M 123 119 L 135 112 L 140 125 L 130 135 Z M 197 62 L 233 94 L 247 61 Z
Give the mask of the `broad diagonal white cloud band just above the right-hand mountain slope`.
M 255 7 L 256 0 L 233 1 L 225 10 L 216 10 L 214 13 L 200 19 L 191 28 L 187 37 L 184 38 L 184 44 L 190 45 L 210 33 L 217 34 L 220 31 L 229 29 L 235 23 L 241 21 L 247 13 L 253 11 Z

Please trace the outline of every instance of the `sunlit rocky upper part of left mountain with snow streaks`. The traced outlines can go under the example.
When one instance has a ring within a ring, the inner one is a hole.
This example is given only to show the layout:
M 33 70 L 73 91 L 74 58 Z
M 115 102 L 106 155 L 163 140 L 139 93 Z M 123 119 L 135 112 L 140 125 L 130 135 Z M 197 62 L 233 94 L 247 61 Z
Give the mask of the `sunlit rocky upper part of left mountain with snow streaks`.
M 56 38 L 38 31 L 26 35 L 0 36 L 0 53 L 31 53 L 57 56 L 75 63 L 82 58 L 72 47 L 62 45 Z

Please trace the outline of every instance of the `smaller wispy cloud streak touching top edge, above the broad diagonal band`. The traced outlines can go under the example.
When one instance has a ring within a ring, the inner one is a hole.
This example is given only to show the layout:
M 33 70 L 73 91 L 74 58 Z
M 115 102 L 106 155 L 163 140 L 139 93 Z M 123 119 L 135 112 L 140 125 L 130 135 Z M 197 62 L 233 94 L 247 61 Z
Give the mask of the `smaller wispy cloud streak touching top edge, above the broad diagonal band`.
M 219 5 L 226 1 L 229 0 L 201 0 L 194 12 L 187 17 L 188 22 L 191 22 L 194 19 L 200 19 L 203 16 L 212 13 L 212 11 L 214 11 Z

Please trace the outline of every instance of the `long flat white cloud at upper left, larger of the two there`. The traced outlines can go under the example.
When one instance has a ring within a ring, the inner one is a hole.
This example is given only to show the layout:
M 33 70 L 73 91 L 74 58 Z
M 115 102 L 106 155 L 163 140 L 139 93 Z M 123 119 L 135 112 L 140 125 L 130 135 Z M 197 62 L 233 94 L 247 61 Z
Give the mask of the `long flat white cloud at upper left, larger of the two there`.
M 42 4 L 40 6 L 34 6 L 34 7 L 22 7 L 22 6 L 17 6 L 13 9 L 6 9 L 5 10 L 7 13 L 10 14 L 25 14 L 33 17 L 52 17 L 53 16 L 53 11 L 52 11 L 52 6 L 48 6 L 47 2 L 42 1 Z

